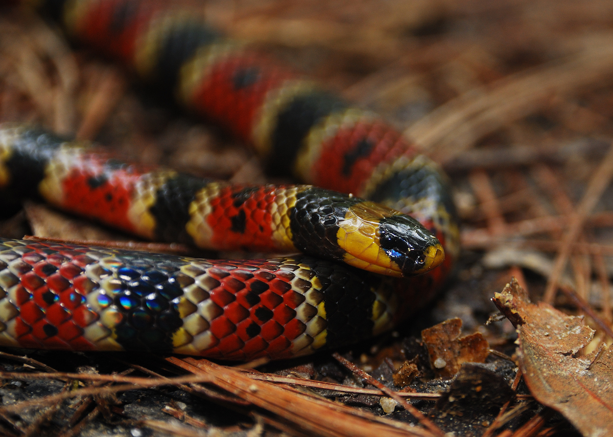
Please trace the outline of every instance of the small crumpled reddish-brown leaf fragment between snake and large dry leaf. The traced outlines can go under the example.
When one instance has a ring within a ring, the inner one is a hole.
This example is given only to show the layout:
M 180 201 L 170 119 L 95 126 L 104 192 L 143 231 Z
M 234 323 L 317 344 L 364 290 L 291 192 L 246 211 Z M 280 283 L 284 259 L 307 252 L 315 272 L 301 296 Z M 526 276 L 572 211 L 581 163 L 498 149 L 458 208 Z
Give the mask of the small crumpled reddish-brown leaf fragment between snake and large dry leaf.
M 480 332 L 460 337 L 462 320 L 449 319 L 422 331 L 430 365 L 441 378 L 452 378 L 465 362 L 482 363 L 489 355 L 489 344 Z

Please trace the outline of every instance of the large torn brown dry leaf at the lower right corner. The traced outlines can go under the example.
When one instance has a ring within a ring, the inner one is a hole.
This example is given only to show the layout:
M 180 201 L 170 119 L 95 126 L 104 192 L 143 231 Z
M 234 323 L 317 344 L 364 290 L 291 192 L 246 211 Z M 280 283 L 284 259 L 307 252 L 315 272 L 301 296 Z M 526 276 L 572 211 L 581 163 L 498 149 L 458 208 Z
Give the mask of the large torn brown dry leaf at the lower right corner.
M 613 435 L 613 348 L 574 357 L 593 329 L 582 316 L 532 304 L 515 278 L 492 301 L 517 328 L 520 366 L 534 397 L 586 437 Z

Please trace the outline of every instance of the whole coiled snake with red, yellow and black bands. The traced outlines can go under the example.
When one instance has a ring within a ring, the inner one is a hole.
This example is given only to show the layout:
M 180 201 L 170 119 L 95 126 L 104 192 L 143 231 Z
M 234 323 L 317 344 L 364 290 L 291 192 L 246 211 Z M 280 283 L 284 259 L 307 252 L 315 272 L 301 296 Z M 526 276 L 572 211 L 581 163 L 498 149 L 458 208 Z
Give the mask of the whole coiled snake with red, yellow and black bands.
M 0 345 L 283 359 L 389 330 L 441 288 L 459 253 L 449 181 L 381 117 L 224 37 L 193 5 L 24 3 L 303 184 L 232 185 L 5 124 L 2 196 L 145 239 L 300 253 L 205 260 L 0 239 Z

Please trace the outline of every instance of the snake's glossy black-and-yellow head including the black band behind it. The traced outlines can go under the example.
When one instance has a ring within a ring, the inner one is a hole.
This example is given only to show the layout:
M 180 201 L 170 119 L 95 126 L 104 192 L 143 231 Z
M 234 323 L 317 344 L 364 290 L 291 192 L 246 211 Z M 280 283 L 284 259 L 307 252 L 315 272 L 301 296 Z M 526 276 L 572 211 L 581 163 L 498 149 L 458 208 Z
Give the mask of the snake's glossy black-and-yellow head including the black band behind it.
M 299 250 L 370 272 L 405 277 L 444 260 L 441 243 L 414 218 L 340 193 L 299 193 L 291 223 Z

